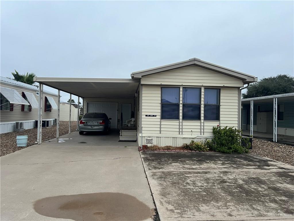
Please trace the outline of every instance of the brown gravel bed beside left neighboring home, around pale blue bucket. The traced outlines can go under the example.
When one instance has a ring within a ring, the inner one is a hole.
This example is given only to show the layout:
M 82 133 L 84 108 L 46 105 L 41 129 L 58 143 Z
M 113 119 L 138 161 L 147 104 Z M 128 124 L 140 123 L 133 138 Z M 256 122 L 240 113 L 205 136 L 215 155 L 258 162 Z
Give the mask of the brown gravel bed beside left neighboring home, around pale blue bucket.
M 76 121 L 71 123 L 71 131 L 76 130 Z M 69 122 L 61 121 L 59 126 L 59 136 L 69 133 Z M 24 146 L 16 146 L 16 136 L 28 135 L 28 145 L 32 146 L 37 141 L 37 128 L 28 129 L 21 132 L 2 133 L 0 135 L 0 156 L 11 154 L 24 149 Z M 42 142 L 56 138 L 56 125 L 51 128 L 42 128 Z

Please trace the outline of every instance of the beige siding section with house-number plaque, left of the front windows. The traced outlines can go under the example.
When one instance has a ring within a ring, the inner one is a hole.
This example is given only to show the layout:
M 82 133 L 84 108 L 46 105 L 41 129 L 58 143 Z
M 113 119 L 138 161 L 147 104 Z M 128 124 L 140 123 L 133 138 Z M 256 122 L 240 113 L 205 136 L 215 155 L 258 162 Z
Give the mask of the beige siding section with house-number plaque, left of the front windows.
M 161 88 L 159 85 L 142 86 L 142 128 L 143 133 L 160 133 L 160 101 Z M 145 115 L 156 115 L 146 117 Z

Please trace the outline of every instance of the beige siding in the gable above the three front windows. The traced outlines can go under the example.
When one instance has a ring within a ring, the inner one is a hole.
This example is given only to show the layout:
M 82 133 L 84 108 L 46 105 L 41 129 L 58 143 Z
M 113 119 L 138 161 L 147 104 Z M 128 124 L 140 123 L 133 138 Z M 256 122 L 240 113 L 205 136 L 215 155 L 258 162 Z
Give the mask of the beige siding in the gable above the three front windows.
M 196 65 L 142 76 L 141 84 L 243 87 L 241 79 Z

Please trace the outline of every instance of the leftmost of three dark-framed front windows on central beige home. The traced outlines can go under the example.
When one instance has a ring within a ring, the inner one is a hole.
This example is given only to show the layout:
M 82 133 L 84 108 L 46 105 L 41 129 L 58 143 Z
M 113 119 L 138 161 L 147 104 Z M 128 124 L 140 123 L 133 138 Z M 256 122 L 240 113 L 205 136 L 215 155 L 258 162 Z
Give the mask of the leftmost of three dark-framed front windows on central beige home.
M 179 119 L 180 88 L 161 88 L 161 119 Z

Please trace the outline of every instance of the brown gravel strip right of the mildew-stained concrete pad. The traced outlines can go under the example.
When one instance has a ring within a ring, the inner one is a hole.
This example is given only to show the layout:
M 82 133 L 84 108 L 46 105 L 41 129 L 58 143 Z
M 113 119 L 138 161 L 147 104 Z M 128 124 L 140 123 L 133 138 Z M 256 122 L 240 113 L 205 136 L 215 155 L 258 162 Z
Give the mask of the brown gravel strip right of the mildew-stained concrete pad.
M 279 144 L 253 138 L 251 154 L 265 156 L 270 159 L 294 166 L 294 146 Z

